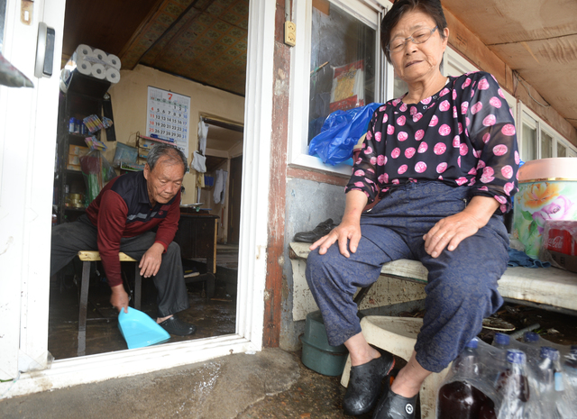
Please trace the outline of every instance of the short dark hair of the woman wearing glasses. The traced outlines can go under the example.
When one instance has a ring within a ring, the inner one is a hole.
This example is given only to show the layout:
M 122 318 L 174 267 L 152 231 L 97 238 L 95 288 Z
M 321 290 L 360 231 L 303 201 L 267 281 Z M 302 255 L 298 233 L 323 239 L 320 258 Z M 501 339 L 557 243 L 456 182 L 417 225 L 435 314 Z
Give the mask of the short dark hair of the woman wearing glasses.
M 389 63 L 391 63 L 391 60 L 387 45 L 389 45 L 390 41 L 390 31 L 397 25 L 404 14 L 414 10 L 431 16 L 435 21 L 439 35 L 444 38 L 444 28 L 447 27 L 447 21 L 444 19 L 441 0 L 397 0 L 382 18 L 382 23 L 380 24 L 380 47 L 385 52 Z

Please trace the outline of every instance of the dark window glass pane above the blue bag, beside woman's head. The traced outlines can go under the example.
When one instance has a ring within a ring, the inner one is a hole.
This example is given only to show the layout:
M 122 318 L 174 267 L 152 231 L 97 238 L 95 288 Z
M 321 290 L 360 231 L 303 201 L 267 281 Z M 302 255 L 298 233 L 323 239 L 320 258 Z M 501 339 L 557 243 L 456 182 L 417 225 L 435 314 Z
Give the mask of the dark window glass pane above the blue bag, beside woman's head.
M 338 6 L 323 4 L 323 10 L 313 6 L 312 14 L 307 143 L 328 114 L 375 97 L 376 31 Z

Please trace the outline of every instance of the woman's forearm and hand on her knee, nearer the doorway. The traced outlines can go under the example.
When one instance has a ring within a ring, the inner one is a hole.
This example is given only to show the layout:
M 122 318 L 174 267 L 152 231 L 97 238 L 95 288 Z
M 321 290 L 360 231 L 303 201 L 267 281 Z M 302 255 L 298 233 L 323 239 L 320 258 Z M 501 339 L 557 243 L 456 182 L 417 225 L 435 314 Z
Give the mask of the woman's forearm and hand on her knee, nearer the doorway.
M 349 250 L 354 253 L 359 247 L 359 241 L 361 240 L 361 214 L 365 205 L 367 205 L 367 196 L 364 195 L 364 192 L 352 190 L 346 194 L 343 221 L 332 232 L 315 241 L 309 249 L 315 250 L 320 246 L 318 253 L 324 255 L 326 250 L 335 241 L 338 241 L 341 254 L 345 258 L 350 257 Z M 349 240 L 351 241 L 350 243 Z

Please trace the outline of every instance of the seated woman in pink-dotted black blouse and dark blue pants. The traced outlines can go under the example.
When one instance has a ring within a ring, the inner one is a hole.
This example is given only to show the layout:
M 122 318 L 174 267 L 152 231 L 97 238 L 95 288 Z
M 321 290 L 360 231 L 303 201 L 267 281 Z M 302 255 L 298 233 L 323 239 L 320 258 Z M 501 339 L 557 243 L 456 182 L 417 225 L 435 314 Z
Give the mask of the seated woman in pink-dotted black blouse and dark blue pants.
M 425 378 L 447 367 L 503 303 L 502 214 L 517 192 L 519 156 L 495 78 L 441 74 L 449 30 L 439 0 L 399 0 L 381 28 L 382 48 L 408 93 L 373 115 L 346 187 L 343 220 L 311 246 L 307 282 L 329 343 L 350 351 L 343 408 L 363 414 L 376 405 L 394 360 L 365 341 L 353 294 L 390 260 L 425 265 L 426 314 L 415 351 L 373 416 L 412 418 Z

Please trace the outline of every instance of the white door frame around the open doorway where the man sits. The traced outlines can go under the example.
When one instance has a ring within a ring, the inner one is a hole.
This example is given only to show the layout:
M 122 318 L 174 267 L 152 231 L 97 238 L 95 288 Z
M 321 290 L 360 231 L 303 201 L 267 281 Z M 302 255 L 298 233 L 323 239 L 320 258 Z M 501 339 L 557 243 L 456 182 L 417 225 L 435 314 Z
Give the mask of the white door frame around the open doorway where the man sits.
M 8 1 L 5 52 L 7 59 L 33 75 L 38 20 L 23 28 L 20 1 Z M 44 5 L 44 7 L 42 7 Z M 60 57 L 65 0 L 37 0 L 34 7 L 57 32 L 56 57 Z M 270 132 L 272 114 L 275 2 L 251 0 L 249 12 L 246 103 L 243 145 L 243 196 L 239 285 L 235 334 L 190 342 L 175 342 L 132 351 L 56 360 L 50 369 L 23 373 L 14 383 L 0 384 L 1 396 L 18 396 L 108 378 L 142 374 L 183 364 L 243 352 L 260 351 L 264 322 L 267 222 L 270 188 Z M 35 11 L 36 13 L 36 11 Z M 17 40 L 17 41 L 16 41 Z M 32 48 L 33 45 L 33 48 Z M 24 50 L 18 57 L 17 50 Z M 24 57 L 25 56 L 25 57 Z M 55 68 L 60 68 L 56 59 Z M 50 259 L 50 205 L 54 141 L 58 108 L 58 75 L 32 78 L 34 89 L 0 90 L 0 371 L 18 376 L 18 354 L 33 348 L 44 353 L 48 342 Z M 43 95 L 43 85 L 50 94 Z M 6 93 L 7 92 L 7 93 Z M 14 118 L 14 96 L 26 99 Z M 9 105 L 10 104 L 10 105 Z M 17 126 L 4 122 L 19 121 Z M 18 143 L 5 139 L 19 139 Z M 24 141 L 25 140 L 25 141 Z M 21 153 L 21 154 L 18 154 Z M 16 159 L 18 157 L 18 159 Z M 10 178 L 10 182 L 8 181 Z M 18 179 L 13 181 L 12 179 Z M 16 206 L 13 207 L 14 201 Z M 8 206 L 8 203 L 11 206 Z M 7 228 L 10 227 L 10 228 Z M 5 253 L 2 253 L 5 251 Z M 8 278 L 11 280 L 8 281 Z M 21 280 L 19 280 L 21 279 Z M 22 293 L 22 295 L 21 295 Z M 22 324 L 22 327 L 21 327 Z M 32 356 L 32 355 L 31 355 Z

